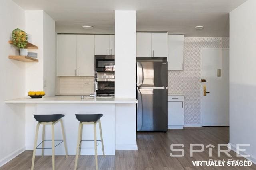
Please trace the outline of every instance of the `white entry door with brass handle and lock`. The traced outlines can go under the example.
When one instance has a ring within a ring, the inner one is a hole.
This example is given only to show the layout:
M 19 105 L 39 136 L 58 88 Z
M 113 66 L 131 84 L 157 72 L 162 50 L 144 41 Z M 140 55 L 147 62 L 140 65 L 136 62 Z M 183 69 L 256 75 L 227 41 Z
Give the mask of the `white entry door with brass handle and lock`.
M 202 82 L 202 125 L 228 126 L 229 49 L 202 49 L 201 57 L 206 80 Z

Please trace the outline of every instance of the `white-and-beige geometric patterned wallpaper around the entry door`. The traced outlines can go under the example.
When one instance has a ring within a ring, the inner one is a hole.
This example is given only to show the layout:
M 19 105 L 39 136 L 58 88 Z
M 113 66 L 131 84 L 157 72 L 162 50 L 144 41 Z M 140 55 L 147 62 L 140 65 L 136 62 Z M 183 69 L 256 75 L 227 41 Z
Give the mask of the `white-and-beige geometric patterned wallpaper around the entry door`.
M 201 48 L 229 48 L 229 38 L 185 37 L 184 70 L 168 71 L 168 93 L 185 94 L 187 125 L 201 124 Z

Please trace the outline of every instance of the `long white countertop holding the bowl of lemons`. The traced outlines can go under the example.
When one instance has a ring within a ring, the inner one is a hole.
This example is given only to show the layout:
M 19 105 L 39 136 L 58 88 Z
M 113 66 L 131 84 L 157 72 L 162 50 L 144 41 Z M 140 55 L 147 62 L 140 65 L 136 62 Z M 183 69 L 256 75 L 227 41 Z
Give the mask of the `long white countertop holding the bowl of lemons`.
M 5 103 L 137 103 L 136 98 L 114 98 L 114 97 L 97 97 L 94 100 L 93 97 L 84 96 L 84 99 L 81 99 L 81 96 L 52 96 L 52 97 L 43 97 L 40 99 L 27 98 L 18 98 L 12 100 L 5 100 Z

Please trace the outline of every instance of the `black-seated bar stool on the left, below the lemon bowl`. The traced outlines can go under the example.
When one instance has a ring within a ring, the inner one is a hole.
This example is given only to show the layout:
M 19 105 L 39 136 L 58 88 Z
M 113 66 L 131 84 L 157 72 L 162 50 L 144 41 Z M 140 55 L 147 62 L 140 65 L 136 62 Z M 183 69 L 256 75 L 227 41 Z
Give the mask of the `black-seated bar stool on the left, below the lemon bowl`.
M 35 137 L 35 143 L 34 143 L 34 151 L 33 151 L 33 158 L 32 158 L 32 166 L 31 166 L 31 170 L 34 170 L 34 163 L 35 163 L 35 156 L 36 156 L 36 149 L 42 149 L 42 157 L 44 155 L 44 149 L 52 149 L 52 170 L 55 169 L 55 150 L 54 148 L 58 145 L 60 145 L 60 143 L 64 142 L 64 147 L 65 147 L 65 152 L 66 152 L 66 158 L 68 157 L 68 152 L 67 152 L 67 145 L 66 145 L 66 137 L 65 137 L 65 133 L 64 133 L 64 127 L 63 127 L 63 123 L 62 123 L 62 117 L 64 117 L 64 115 L 61 114 L 54 114 L 54 115 L 34 115 L 34 118 L 36 119 L 36 121 L 38 121 L 37 125 L 36 125 L 36 137 Z M 56 123 L 58 123 L 60 121 L 60 125 L 61 125 L 61 129 L 62 129 L 62 140 L 54 140 L 54 125 L 56 125 Z M 42 133 L 42 142 L 39 144 L 42 144 L 42 147 L 40 148 L 39 145 L 37 145 L 37 139 L 38 139 L 38 131 L 39 131 L 39 126 L 43 125 L 43 133 Z M 45 125 L 52 125 L 52 148 L 44 148 L 44 142 L 45 141 L 50 141 L 50 140 L 44 140 L 44 133 L 45 133 Z M 54 141 L 60 141 L 60 143 L 58 143 L 57 145 L 54 144 Z

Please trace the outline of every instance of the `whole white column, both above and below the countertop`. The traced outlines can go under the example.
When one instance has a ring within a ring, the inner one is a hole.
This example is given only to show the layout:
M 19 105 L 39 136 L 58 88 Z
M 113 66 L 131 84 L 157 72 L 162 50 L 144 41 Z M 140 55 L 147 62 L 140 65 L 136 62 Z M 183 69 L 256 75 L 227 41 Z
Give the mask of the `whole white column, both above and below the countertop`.
M 115 97 L 136 98 L 136 11 L 115 11 L 115 68 Z M 136 104 L 116 104 L 116 150 L 137 149 Z

